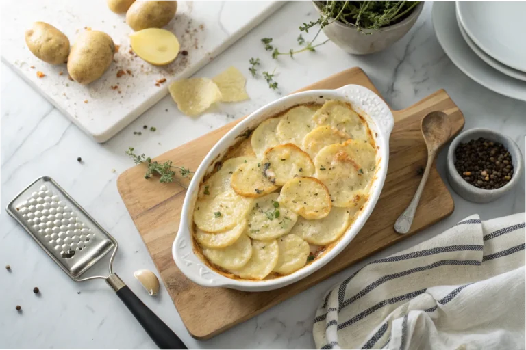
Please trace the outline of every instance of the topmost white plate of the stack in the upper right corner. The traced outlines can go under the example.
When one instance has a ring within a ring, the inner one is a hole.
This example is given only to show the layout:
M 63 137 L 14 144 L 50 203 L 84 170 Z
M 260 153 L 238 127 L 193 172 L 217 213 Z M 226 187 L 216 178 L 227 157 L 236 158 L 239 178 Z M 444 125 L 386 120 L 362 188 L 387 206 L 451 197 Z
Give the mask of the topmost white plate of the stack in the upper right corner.
M 462 0 L 456 3 L 460 22 L 480 49 L 506 66 L 526 72 L 526 1 Z

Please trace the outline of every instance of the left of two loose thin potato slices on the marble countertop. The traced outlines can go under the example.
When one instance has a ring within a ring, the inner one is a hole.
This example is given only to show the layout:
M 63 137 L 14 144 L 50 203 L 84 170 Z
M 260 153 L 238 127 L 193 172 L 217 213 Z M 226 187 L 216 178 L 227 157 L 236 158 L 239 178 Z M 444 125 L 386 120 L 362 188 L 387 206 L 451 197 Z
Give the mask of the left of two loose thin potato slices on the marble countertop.
M 219 87 L 208 78 L 174 81 L 169 90 L 179 111 L 187 116 L 199 116 L 211 105 L 221 100 Z

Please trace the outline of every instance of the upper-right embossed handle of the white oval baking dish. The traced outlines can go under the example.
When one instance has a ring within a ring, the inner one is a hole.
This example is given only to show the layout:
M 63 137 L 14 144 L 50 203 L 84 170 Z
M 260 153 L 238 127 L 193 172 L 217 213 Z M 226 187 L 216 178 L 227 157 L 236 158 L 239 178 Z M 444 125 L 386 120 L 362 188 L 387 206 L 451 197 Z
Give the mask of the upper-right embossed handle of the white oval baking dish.
M 362 85 L 349 84 L 340 87 L 338 90 L 347 100 L 350 100 L 353 107 L 362 109 L 377 124 L 379 131 L 389 139 L 395 118 L 388 105 L 375 92 Z

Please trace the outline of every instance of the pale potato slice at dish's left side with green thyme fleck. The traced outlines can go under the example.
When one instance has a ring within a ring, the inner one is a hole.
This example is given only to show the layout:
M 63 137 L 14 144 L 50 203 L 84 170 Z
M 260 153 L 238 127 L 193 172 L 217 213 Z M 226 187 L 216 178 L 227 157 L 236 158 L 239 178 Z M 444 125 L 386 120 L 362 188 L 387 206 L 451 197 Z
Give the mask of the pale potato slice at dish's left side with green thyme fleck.
M 206 232 L 223 232 L 234 228 L 247 217 L 251 198 L 239 196 L 233 189 L 214 198 L 198 199 L 195 203 L 194 222 Z

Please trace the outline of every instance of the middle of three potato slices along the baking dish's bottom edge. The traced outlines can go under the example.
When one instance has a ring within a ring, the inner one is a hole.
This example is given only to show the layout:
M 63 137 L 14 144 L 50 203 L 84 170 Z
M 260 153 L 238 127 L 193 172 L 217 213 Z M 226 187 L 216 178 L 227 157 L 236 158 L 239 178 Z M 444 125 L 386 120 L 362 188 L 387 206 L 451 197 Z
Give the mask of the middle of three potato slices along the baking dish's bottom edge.
M 254 239 L 252 241 L 252 257 L 247 265 L 237 271 L 231 270 L 231 273 L 249 280 L 263 280 L 276 266 L 278 254 L 279 248 L 275 239 L 272 241 Z

